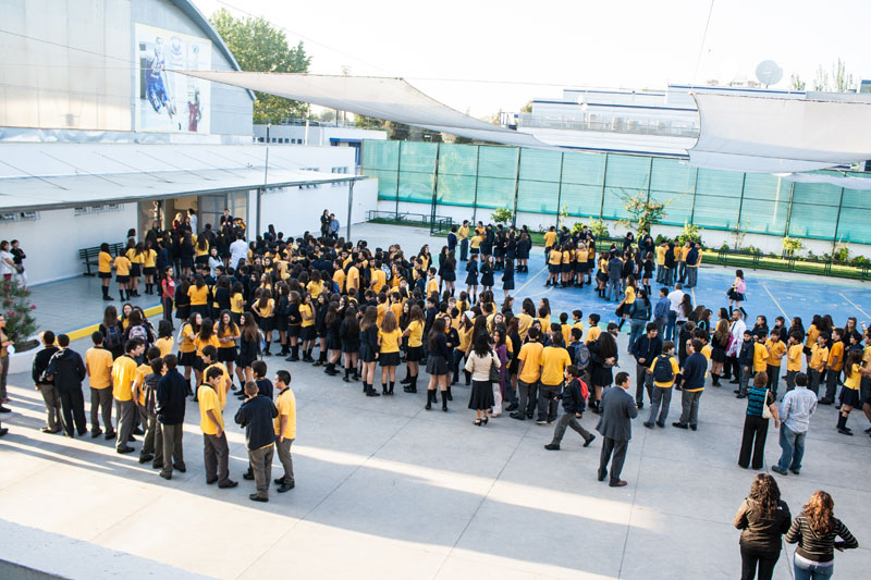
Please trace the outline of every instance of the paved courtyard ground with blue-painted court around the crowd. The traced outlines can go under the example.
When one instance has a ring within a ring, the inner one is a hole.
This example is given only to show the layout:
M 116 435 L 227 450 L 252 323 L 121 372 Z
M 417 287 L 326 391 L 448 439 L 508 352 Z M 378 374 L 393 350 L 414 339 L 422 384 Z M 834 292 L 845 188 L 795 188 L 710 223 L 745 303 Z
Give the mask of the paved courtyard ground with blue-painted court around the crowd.
M 436 256 L 444 244 L 426 230 L 381 224 L 355 225 L 352 238 L 367 239 L 371 248 L 400 243 L 407 255 L 429 244 Z M 547 296 L 554 313 L 580 308 L 585 323 L 593 311 L 603 323 L 614 319 L 615 304 L 587 287 L 544 288 L 541 249 L 532 256 L 529 274 L 516 276 L 515 310 L 523 297 Z M 838 324 L 849 316 L 871 319 L 870 283 L 746 275 L 750 317 L 762 313 L 771 322 L 800 316 L 806 325 L 817 312 L 831 313 Z M 703 266 L 694 303 L 714 312 L 726 306 L 733 276 L 733 270 Z M 98 322 L 105 306 L 98 285 L 77 277 L 35 287 L 40 326 L 65 332 Z M 618 341 L 619 363 L 635 384 L 627 337 Z M 88 338 L 72 345 L 79 353 L 88 346 Z M 40 433 L 42 400 L 29 373 L 10 375 L 13 412 L 2 417 L 10 432 L 0 439 L 0 560 L 20 568 L 3 564 L 0 577 L 102 578 L 119 568 L 127 578 L 223 579 L 739 575 L 739 532 L 732 521 L 756 471 L 737 466 L 746 402 L 735 399 L 732 385 L 706 388 L 697 432 L 649 430 L 635 420 L 623 471 L 628 485 L 612 489 L 596 478 L 601 437 L 582 448 L 569 431 L 562 451 L 548 452 L 553 425 L 504 414 L 475 427 L 462 384 L 453 388 L 450 412 L 426 411 L 422 390 L 367 398 L 360 383 L 329 378 L 320 368 L 266 360 L 270 378 L 278 369 L 292 372 L 298 422 L 296 489 L 271 493 L 268 504 L 247 497 L 254 485 L 242 479 L 247 455 L 244 433 L 232 424 L 235 397 L 224 415 L 231 478 L 240 485 L 219 490 L 205 483 L 196 404 L 188 404 L 185 422 L 187 472 L 164 481 L 137 462 L 138 454 L 118 455 L 102 437 Z M 679 407 L 679 396 L 673 397 L 672 419 Z M 861 414 L 851 415 L 851 437 L 839 435 L 835 421 L 833 407 L 820 407 L 801 474 L 775 478 L 794 516 L 814 491 L 832 494 L 835 515 L 860 544 L 836 555 L 836 577 L 862 578 L 871 565 L 871 437 L 862 433 L 869 425 Z M 588 430 L 596 422 L 589 412 L 582 419 Z M 780 457 L 773 425 L 765 449 L 768 470 Z M 280 474 L 274 465 L 273 478 Z M 792 578 L 793 548 L 785 547 L 776 579 Z

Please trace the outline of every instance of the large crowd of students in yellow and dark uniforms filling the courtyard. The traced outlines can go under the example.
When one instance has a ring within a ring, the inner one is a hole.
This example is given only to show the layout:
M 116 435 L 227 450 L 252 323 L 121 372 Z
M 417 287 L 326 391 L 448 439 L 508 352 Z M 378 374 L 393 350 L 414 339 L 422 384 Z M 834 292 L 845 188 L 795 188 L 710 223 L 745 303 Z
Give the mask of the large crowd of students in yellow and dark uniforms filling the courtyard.
M 171 264 L 163 268 L 160 288 L 164 312 L 157 332 L 136 307 L 124 305 L 121 316 L 113 306 L 106 309 L 94 342 L 95 349 L 103 349 L 110 356 L 99 353 L 99 361 L 94 358 L 97 355 L 88 360 L 89 350 L 85 368 L 91 374 L 91 387 L 97 391 L 106 388 L 106 372 L 97 373 L 95 386 L 91 367 L 111 368 L 118 432 L 111 431 L 111 409 L 106 411 L 111 400 L 99 394 L 91 397 L 91 433 L 99 434 L 98 408 L 102 408 L 107 436 L 112 433 L 116 437 L 119 453 L 132 451 L 127 442 L 137 416 L 146 429 L 152 416 L 160 422 L 159 411 L 149 411 L 147 403 L 143 403 L 147 400 L 143 394 L 148 377 L 151 382 L 162 384 L 160 377 L 172 374 L 174 386 L 200 405 L 209 479 L 218 478 L 216 481 L 222 486 L 234 484 L 225 471 L 225 437 L 223 443 L 220 441 L 221 411 L 231 391 L 238 391 L 240 398 L 253 398 L 248 394 L 250 384 L 255 385 L 252 388 L 258 388 L 253 391 L 255 395 L 259 393 L 271 402 L 271 386 L 260 385 L 269 382 L 263 357 L 272 356 L 273 349 L 274 355 L 286 357 L 287 362 L 311 363 L 322 367 L 328 375 L 342 375 L 346 383 L 359 382 L 361 393 L 369 397 L 393 396 L 397 382 L 404 385 L 405 393 L 417 393 L 422 367 L 428 374 L 427 410 L 441 402 L 442 410 L 447 411 L 454 395 L 452 386 L 462 381 L 470 386 L 467 407 L 475 411 L 475 424 L 481 427 L 504 412 L 516 420 L 554 423 L 562 399 L 565 412 L 547 448 L 559 449 L 567 428 L 578 432 L 584 446 L 588 446 L 594 436 L 581 427 L 579 419 L 587 408 L 594 414 L 603 411 L 603 392 L 614 383 L 613 371 L 618 366 L 616 338 L 626 320 L 631 321 L 633 331 L 628 350 L 636 360 L 635 405 L 637 409 L 643 408 L 645 393 L 650 405 L 645 427 L 665 427 L 672 391 L 677 390 L 682 392 L 682 412 L 673 425 L 697 430 L 700 397 L 706 386 L 716 387 L 721 380 L 731 380 L 737 385 L 736 396 L 748 398 L 748 421 L 739 454 L 743 467 L 749 462 L 751 446 L 753 467 L 761 467 L 762 419 L 765 429 L 770 416 L 775 423 L 780 422 L 775 402 L 784 358 L 783 381 L 787 393 L 807 388 L 815 395 L 824 384 L 820 403 L 832 404 L 843 384 L 836 427 L 839 433 L 852 434 L 846 422 L 854 408 L 863 408 L 871 420 L 871 333 L 864 329 L 860 333 L 855 319 L 848 319 L 843 329 L 837 329 L 830 316 L 814 317 L 807 330 L 800 319 L 793 319 L 787 326 L 782 317 L 777 317 L 771 329 L 764 317 L 758 317 L 756 325 L 748 329 L 740 308 L 746 291 L 740 271 L 729 292 L 737 308 L 720 308 L 714 317 L 704 306 L 694 307 L 680 283 L 682 277 L 688 286 L 697 281 L 695 270 L 700 252 L 691 244 L 679 254 L 673 244 L 651 250 L 652 239 L 646 234 L 637 245 L 627 236 L 623 250 L 609 248 L 600 254 L 596 274 L 600 296 L 610 299 L 613 295 L 621 300 L 615 321 L 600 325 L 598 313 L 585 318 L 579 309 L 552 311 L 547 297 L 538 303 L 530 298 L 519 300 L 519 305 L 515 303 L 513 275 L 527 271 L 531 248 L 529 233 L 524 230 L 482 226 L 479 222 L 475 231 L 469 231 L 466 222 L 449 234 L 446 245 L 433 258 L 427 245 L 416 254 L 406 254 L 398 244 L 385 249 L 369 248 L 365 240 L 354 244 L 341 237 L 316 238 L 308 234 L 285 239 L 271 226 L 256 242 L 246 244 L 233 227 L 229 226 L 229 231 L 224 227 L 223 233 L 235 236 L 242 245 L 234 243 L 226 251 L 218 251 L 203 233 L 197 246 L 206 240 L 205 260 L 197 256 L 192 262 L 185 259 L 177 269 Z M 591 260 L 597 263 L 596 240 L 587 231 L 561 239 L 566 232 L 551 229 L 545 235 L 548 284 L 581 285 L 590 281 Z M 182 232 L 182 238 L 189 234 Z M 157 236 L 162 248 L 173 233 Z M 457 247 L 459 259 L 455 254 Z M 662 254 L 661 264 L 654 263 L 654 251 Z M 456 271 L 464 260 L 467 261 L 465 292 L 456 288 Z M 576 270 L 575 264 L 580 268 Z M 655 308 L 649 298 L 654 266 L 658 281 L 661 273 L 664 284 Z M 501 304 L 493 294 L 496 270 L 503 272 L 505 295 Z M 146 284 L 148 292 L 149 283 Z M 174 321 L 179 322 L 177 329 Z M 115 371 L 118 365 L 123 369 Z M 403 366 L 405 378 L 397 381 Z M 280 371 L 275 381 L 285 387 L 290 375 L 282 372 L 285 371 Z M 34 380 L 39 386 L 38 379 L 50 374 L 41 372 L 37 377 L 35 370 Z M 627 388 L 628 375 L 619 375 Z M 378 384 L 380 388 L 376 387 Z M 155 393 L 159 398 L 159 388 Z M 790 404 L 795 403 L 793 398 Z M 815 403 L 817 397 L 813 398 Z M 62 402 L 59 406 L 63 409 Z M 813 411 L 808 406 L 802 407 L 803 415 L 799 418 L 805 427 Z M 262 412 L 269 410 L 266 405 L 261 407 Z M 278 408 L 281 410 L 280 405 Z M 61 415 L 65 417 L 66 411 Z M 68 434 L 72 434 L 73 424 L 82 432 L 74 415 L 61 420 L 64 425 L 70 424 Z M 782 415 L 785 421 L 788 411 Z M 761 419 L 751 421 L 750 417 Z M 49 422 L 47 430 L 57 430 L 57 424 Z M 803 434 L 793 427 L 792 435 Z M 277 424 L 275 434 L 279 431 L 283 429 Z M 871 433 L 871 429 L 867 431 Z M 286 437 L 293 440 L 293 430 L 289 433 Z M 174 445 L 175 437 L 164 435 L 163 458 L 158 460 L 151 457 L 152 447 L 146 434 L 140 461 L 154 459 L 162 462 L 165 470 L 171 465 L 171 455 L 176 453 L 167 447 L 168 440 L 172 442 L 170 447 Z M 790 457 L 778 464 L 784 474 L 787 468 L 794 473 L 799 471 L 797 440 L 793 436 L 787 441 Z M 803 449 L 803 437 L 800 445 Z M 279 456 L 290 461 L 290 447 L 286 453 L 280 451 Z M 794 456 L 798 457 L 797 464 Z M 253 466 L 263 464 L 263 454 L 252 459 Z M 262 467 L 257 469 L 262 472 Z M 289 469 L 285 465 L 285 471 Z M 618 470 L 616 480 L 613 478 L 612 472 L 612 483 L 621 481 Z M 258 477 L 260 480 L 262 477 Z M 292 486 L 292 471 L 282 481 Z M 260 488 L 258 497 L 262 498 Z

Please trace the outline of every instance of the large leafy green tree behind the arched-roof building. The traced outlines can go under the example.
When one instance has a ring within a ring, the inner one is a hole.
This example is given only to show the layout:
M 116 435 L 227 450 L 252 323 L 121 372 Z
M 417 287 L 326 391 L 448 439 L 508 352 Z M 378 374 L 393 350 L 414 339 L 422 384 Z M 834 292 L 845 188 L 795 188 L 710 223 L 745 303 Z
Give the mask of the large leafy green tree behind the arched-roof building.
M 311 57 L 303 42 L 287 45 L 287 38 L 262 17 L 234 18 L 224 9 L 212 14 L 210 22 L 235 57 L 243 71 L 263 73 L 306 73 Z M 255 92 L 254 122 L 278 123 L 282 119 L 306 116 L 308 103 Z

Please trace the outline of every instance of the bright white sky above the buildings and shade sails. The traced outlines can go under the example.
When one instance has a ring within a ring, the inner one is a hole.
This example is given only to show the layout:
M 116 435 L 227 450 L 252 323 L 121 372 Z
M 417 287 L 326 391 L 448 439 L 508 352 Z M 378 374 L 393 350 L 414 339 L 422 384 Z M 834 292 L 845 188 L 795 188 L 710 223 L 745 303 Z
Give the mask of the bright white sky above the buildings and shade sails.
M 838 58 L 871 78 L 869 0 L 193 1 L 207 16 L 263 16 L 304 42 L 310 73 L 401 76 L 475 116 L 563 87 L 752 79 L 763 60 L 783 69 L 777 88 L 797 73 L 810 89 Z

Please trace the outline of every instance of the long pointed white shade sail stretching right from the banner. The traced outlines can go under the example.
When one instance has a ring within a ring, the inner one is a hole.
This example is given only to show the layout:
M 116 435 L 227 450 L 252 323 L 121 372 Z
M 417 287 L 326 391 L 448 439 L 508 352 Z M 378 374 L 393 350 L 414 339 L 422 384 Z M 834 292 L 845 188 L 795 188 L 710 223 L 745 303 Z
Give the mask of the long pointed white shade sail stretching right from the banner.
M 402 78 L 235 71 L 176 71 L 241 88 L 385 119 L 471 139 L 556 149 L 526 133 L 491 125 L 422 94 Z

